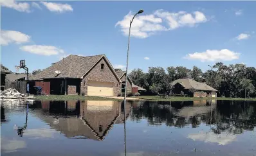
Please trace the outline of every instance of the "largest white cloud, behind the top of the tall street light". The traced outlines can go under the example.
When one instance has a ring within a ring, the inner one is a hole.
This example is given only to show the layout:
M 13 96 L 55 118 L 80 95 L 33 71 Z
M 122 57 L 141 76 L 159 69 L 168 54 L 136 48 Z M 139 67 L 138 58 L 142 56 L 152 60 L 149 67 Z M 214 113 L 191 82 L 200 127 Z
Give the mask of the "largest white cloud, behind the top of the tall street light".
M 115 26 L 120 26 L 124 35 L 129 35 L 130 21 L 134 13 L 129 12 L 122 21 L 116 22 Z M 182 26 L 195 26 L 198 23 L 206 22 L 207 19 L 202 12 L 165 12 L 156 10 L 150 15 L 138 15 L 134 18 L 131 26 L 131 36 L 140 39 L 154 35 L 157 31 L 169 31 Z

